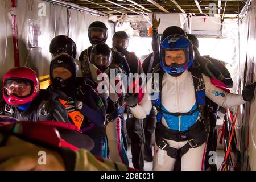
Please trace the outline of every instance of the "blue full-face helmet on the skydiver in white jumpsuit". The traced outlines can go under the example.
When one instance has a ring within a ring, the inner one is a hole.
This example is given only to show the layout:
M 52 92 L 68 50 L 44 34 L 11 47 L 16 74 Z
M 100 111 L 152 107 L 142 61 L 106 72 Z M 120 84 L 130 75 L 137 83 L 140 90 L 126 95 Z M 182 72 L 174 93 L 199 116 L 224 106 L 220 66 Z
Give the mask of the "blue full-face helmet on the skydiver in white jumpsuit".
M 183 50 L 186 56 L 185 63 L 166 64 L 165 53 L 166 51 L 178 51 Z M 183 35 L 170 35 L 165 38 L 160 44 L 160 66 L 162 69 L 175 75 L 177 73 L 183 73 L 185 70 L 191 67 L 194 61 L 194 51 L 192 43 Z

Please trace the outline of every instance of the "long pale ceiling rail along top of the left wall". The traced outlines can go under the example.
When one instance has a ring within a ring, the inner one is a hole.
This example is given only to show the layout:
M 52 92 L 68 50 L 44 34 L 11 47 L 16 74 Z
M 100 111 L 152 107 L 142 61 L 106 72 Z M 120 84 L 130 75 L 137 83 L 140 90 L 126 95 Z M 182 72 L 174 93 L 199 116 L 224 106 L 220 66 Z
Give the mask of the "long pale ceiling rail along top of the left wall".
M 93 15 L 96 15 L 96 16 L 108 16 L 108 14 L 102 13 L 101 11 L 89 9 L 87 7 L 79 6 L 79 5 L 76 5 L 74 3 L 69 3 L 69 2 L 60 1 L 60 0 L 43 0 L 43 1 L 53 3 L 55 5 L 64 6 L 64 7 L 70 8 L 70 9 L 82 11 L 84 13 L 93 14 Z

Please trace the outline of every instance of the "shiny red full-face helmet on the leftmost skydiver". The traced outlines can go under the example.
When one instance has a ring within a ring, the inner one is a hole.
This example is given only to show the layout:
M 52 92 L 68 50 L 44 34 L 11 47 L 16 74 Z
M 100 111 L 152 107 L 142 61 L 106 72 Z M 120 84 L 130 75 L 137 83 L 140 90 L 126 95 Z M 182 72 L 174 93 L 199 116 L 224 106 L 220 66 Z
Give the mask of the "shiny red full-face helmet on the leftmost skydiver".
M 23 84 L 24 86 L 20 84 Z M 30 91 L 26 94 L 26 91 L 23 91 L 22 89 L 26 90 L 27 85 L 30 86 Z M 21 90 L 21 93 L 23 92 L 26 95 L 13 93 L 12 91 L 14 90 L 14 87 L 17 87 L 18 90 Z M 34 100 L 34 98 L 38 96 L 39 91 L 38 76 L 30 68 L 15 67 L 10 69 L 3 76 L 3 98 L 9 105 L 17 106 L 26 104 Z

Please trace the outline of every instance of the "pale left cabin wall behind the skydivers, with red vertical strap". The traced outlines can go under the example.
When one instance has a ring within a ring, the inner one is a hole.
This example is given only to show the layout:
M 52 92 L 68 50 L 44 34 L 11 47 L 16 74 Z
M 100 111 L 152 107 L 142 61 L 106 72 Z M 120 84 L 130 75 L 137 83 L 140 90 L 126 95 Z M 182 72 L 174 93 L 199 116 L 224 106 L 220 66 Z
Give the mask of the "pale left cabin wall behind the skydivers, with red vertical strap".
M 42 6 L 45 6 L 45 9 Z M 45 14 L 43 10 L 45 10 Z M 67 7 L 53 5 L 45 1 L 17 1 L 16 9 L 11 8 L 10 1 L 0 1 L 1 88 L 3 75 L 10 68 L 14 67 L 11 13 L 16 14 L 20 66 L 34 69 L 38 73 L 39 78 L 45 81 L 41 82 L 42 88 L 46 88 L 48 85 L 48 81 L 46 80 L 49 74 L 49 63 L 52 59 L 49 53 L 49 43 L 54 36 L 69 35 L 76 42 L 78 58 L 81 51 L 90 46 L 88 39 L 89 24 L 95 20 L 100 20 L 108 24 L 108 18 L 106 17 L 67 9 Z M 70 18 L 68 15 L 70 15 Z M 31 28 L 33 24 L 38 26 L 34 32 L 33 28 Z M 112 32 L 110 31 L 109 35 L 111 34 Z M 36 39 L 38 38 L 38 47 L 36 45 L 34 47 L 28 46 L 28 38 L 31 37 L 35 38 L 34 44 L 36 44 Z M 107 40 L 108 44 L 110 42 L 111 36 Z M 0 90 L 2 96 L 2 89 Z

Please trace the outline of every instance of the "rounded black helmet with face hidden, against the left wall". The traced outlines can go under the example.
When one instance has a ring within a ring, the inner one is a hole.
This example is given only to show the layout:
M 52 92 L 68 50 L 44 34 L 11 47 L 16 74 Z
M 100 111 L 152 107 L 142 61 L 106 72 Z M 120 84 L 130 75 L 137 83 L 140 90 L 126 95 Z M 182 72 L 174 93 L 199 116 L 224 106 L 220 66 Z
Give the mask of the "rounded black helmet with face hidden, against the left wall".
M 76 59 L 76 43 L 68 36 L 55 36 L 50 43 L 49 49 L 53 55 L 58 55 L 61 52 L 65 52 Z

